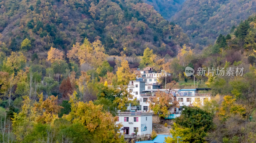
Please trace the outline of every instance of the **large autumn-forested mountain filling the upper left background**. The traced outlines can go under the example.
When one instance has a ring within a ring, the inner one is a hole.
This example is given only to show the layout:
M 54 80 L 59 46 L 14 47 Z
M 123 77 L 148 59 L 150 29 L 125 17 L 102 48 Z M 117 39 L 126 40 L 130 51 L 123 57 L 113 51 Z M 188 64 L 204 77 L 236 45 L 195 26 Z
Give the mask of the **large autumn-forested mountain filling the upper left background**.
M 140 0 L 5 0 L 0 2 L 0 49 L 21 50 L 28 39 L 30 52 L 51 46 L 69 50 L 87 37 L 105 45 L 109 55 L 142 55 L 146 47 L 175 56 L 175 45 L 188 43 L 178 26 Z

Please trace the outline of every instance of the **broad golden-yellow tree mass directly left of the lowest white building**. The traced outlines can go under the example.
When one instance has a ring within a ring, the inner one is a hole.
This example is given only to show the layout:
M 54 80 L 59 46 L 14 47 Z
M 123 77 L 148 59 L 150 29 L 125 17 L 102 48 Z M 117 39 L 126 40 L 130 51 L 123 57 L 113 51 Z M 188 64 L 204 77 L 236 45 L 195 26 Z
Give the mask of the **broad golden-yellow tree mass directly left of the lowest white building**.
M 116 124 L 116 117 L 109 112 L 103 112 L 103 105 L 94 105 L 92 101 L 87 103 L 76 98 L 76 91 L 70 96 L 71 112 L 62 118 L 71 121 L 72 124 L 84 125 L 90 133 L 93 132 L 94 142 L 120 142 L 118 129 L 121 124 Z

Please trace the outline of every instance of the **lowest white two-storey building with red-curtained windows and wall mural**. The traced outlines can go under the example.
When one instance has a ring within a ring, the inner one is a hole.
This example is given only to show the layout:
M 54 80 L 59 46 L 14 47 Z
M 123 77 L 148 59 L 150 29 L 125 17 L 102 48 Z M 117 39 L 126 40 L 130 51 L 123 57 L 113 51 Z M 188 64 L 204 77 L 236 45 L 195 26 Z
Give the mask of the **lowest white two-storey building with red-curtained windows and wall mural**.
M 126 135 L 145 135 L 152 133 L 152 115 L 148 112 L 118 112 L 116 123 L 122 123 Z

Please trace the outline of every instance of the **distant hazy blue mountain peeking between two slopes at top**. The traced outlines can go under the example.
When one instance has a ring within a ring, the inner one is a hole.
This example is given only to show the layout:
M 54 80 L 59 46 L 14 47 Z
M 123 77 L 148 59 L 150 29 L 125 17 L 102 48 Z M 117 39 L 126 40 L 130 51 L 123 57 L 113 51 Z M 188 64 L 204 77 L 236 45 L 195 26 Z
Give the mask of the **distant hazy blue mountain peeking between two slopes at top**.
M 165 19 L 171 20 L 172 16 L 181 10 L 186 0 L 143 0 L 145 3 L 154 6 Z

